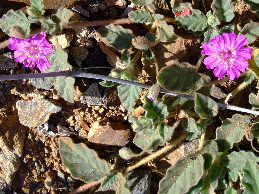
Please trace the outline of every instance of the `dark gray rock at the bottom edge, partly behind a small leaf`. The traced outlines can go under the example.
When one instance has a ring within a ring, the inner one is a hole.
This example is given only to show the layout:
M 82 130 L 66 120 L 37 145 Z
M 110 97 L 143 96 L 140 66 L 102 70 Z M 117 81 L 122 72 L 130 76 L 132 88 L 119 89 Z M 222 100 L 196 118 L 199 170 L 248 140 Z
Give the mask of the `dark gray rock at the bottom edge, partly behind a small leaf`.
M 127 186 L 131 193 L 144 194 L 150 192 L 151 171 L 134 170 L 126 174 Z M 118 182 L 115 181 L 108 187 L 99 187 L 95 193 L 116 193 Z

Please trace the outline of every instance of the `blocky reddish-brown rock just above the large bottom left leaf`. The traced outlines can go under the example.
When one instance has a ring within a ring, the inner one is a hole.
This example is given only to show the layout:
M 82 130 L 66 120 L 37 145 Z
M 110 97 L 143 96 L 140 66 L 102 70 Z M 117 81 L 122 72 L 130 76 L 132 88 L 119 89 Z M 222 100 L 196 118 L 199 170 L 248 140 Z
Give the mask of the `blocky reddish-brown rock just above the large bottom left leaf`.
M 88 141 L 102 145 L 125 146 L 131 137 L 129 125 L 103 119 L 95 122 L 89 130 Z

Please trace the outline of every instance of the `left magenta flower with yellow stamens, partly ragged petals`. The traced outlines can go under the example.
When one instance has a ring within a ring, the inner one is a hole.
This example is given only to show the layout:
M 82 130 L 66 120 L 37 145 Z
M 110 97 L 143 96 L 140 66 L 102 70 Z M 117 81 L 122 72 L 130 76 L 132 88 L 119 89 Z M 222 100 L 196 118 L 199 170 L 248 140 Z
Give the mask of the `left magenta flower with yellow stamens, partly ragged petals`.
M 39 70 L 45 71 L 47 67 L 50 68 L 46 55 L 53 50 L 53 45 L 49 44 L 45 37 L 45 32 L 41 32 L 39 37 L 36 34 L 27 40 L 11 37 L 8 48 L 16 50 L 14 51 L 15 61 L 23 63 L 24 67 L 33 69 L 37 64 Z

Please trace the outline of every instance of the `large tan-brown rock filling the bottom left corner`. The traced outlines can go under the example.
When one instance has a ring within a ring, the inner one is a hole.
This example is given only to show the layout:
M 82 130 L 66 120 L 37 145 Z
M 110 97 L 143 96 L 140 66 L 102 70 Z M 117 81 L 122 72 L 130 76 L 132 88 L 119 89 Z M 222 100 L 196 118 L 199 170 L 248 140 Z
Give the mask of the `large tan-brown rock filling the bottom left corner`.
M 0 193 L 10 193 L 15 173 L 19 170 L 27 127 L 18 115 L 0 119 Z

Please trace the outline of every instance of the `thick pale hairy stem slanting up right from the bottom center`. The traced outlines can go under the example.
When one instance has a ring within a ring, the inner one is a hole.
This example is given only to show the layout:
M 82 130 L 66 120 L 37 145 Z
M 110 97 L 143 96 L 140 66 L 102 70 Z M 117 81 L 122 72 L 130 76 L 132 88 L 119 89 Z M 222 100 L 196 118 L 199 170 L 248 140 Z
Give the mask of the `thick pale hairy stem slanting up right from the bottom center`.
M 179 124 L 179 122 L 180 121 L 176 121 L 174 126 L 177 126 Z M 124 169 L 124 174 L 134 170 L 135 168 L 138 168 L 138 167 L 142 166 L 143 164 L 145 164 L 145 163 L 155 159 L 156 157 L 159 157 L 163 153 L 169 151 L 170 149 L 172 149 L 175 145 L 177 145 L 180 141 L 182 141 L 186 137 L 186 133 L 187 132 L 184 132 L 180 137 L 178 137 L 172 143 L 170 143 L 170 144 L 166 145 L 165 147 L 159 149 L 157 152 L 153 153 L 152 155 L 149 155 L 149 156 L 143 158 L 142 160 L 138 161 L 137 163 L 135 163 L 135 164 L 133 164 L 131 166 L 126 167 Z

